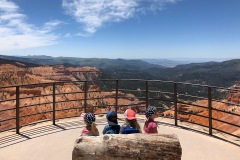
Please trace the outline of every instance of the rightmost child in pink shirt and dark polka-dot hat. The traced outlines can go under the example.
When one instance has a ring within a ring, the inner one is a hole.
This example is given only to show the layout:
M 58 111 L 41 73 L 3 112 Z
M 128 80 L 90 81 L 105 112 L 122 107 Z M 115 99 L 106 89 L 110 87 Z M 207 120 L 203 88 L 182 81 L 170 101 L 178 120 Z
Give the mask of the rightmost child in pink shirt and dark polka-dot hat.
M 158 117 L 156 113 L 157 111 L 155 107 L 149 106 L 146 109 L 145 115 L 147 119 L 143 127 L 144 133 L 146 134 L 158 133 L 157 130 L 158 125 L 157 122 L 154 121 L 154 119 Z

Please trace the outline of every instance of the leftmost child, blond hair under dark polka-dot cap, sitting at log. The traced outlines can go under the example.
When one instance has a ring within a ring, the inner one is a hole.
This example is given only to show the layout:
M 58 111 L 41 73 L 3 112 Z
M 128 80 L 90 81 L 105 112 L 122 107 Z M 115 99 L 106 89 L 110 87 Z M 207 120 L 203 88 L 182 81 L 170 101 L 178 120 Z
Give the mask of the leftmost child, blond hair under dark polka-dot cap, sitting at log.
M 83 115 L 86 126 L 81 130 L 80 136 L 99 136 L 98 129 L 95 124 L 95 115 L 86 113 Z

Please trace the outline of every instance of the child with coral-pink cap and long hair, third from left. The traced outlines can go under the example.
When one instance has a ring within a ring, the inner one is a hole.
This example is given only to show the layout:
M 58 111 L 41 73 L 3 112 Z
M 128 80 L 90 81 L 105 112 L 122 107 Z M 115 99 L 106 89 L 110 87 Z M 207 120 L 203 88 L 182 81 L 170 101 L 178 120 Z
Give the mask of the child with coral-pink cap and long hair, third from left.
M 127 109 L 124 113 L 125 123 L 120 129 L 121 134 L 142 133 L 137 122 L 136 113 L 132 109 Z

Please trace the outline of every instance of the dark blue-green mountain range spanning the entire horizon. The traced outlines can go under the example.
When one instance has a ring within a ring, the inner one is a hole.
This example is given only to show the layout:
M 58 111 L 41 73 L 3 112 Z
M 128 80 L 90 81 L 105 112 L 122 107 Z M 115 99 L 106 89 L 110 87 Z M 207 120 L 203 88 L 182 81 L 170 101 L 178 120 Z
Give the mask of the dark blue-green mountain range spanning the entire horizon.
M 113 79 L 160 79 L 229 87 L 240 81 L 240 59 L 223 62 L 204 62 L 164 67 L 146 62 L 146 60 L 99 59 L 50 56 L 4 56 L 0 58 L 25 62 L 28 65 L 59 65 L 65 67 L 96 67 L 102 71 L 100 78 Z M 3 61 L 3 60 L 1 60 Z M 1 62 L 0 61 L 0 62 Z M 156 60 L 157 61 L 157 60 Z M 159 60 L 160 62 L 160 60 Z M 164 61 L 173 64 L 172 61 Z M 166 65 L 165 65 L 166 66 Z

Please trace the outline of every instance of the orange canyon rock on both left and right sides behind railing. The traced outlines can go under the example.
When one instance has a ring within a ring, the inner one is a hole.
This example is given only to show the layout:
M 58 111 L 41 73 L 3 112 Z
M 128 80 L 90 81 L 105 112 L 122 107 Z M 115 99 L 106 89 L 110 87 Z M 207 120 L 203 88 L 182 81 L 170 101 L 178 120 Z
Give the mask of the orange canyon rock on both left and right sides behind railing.
M 52 120 L 53 82 L 61 82 L 55 83 L 56 119 L 79 116 L 84 112 L 85 106 L 86 112 L 94 112 L 95 114 L 103 114 L 116 107 L 115 86 L 112 84 L 112 89 L 106 90 L 102 88 L 104 85 L 100 86 L 94 82 L 101 74 L 101 71 L 96 67 L 64 67 L 63 65 L 29 67 L 24 63 L 16 62 L 15 64 L 1 64 L 0 74 L 0 131 L 16 127 L 16 85 L 23 85 L 19 89 L 20 126 Z M 83 82 L 85 80 L 90 81 L 87 84 L 87 89 Z M 215 120 L 240 125 L 238 116 L 240 114 L 238 106 L 240 105 L 240 83 L 236 83 L 232 88 L 236 91 L 228 92 L 222 100 L 226 103 L 212 102 L 212 123 L 213 128 L 240 136 L 239 127 Z M 87 97 L 86 103 L 84 101 L 85 96 Z M 118 91 L 117 103 L 119 113 L 123 113 L 128 106 L 131 106 L 138 113 L 144 113 L 145 111 L 145 102 L 136 98 L 132 93 Z M 209 122 L 206 118 L 208 117 L 208 101 L 197 100 L 193 104 L 178 103 L 179 120 L 208 127 Z M 195 105 L 205 106 L 206 108 Z M 173 108 L 173 106 L 169 106 L 169 109 L 160 114 L 164 117 L 173 118 Z M 227 111 L 235 115 L 214 109 Z M 200 115 L 200 117 L 197 115 Z

